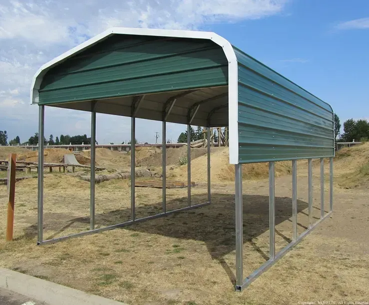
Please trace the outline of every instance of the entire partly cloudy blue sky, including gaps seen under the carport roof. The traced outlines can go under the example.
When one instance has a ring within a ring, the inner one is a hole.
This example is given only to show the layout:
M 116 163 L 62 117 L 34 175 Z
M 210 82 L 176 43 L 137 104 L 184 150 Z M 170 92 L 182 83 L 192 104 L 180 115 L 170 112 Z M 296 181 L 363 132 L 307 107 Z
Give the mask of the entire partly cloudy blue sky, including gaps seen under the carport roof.
M 0 130 L 37 132 L 31 79 L 47 61 L 113 26 L 214 31 L 330 103 L 341 123 L 369 119 L 368 0 L 0 0 Z M 130 118 L 97 114 L 99 143 L 130 139 Z M 175 142 L 184 125 L 167 126 Z M 137 119 L 155 143 L 161 122 Z M 90 134 L 90 114 L 45 107 L 45 136 Z M 158 139 L 161 141 L 161 138 Z

